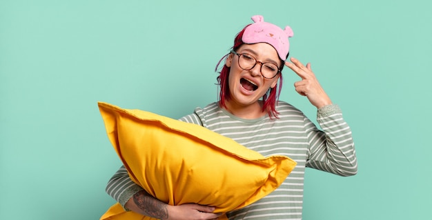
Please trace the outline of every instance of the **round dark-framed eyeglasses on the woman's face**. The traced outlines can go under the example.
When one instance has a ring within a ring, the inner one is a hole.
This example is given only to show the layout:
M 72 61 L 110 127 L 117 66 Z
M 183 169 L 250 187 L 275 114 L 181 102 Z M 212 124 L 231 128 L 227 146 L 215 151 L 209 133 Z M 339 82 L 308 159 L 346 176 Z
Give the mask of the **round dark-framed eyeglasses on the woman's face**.
M 266 79 L 273 79 L 280 72 L 279 67 L 277 67 L 275 63 L 263 63 L 261 61 L 257 61 L 255 57 L 248 53 L 237 54 L 237 52 L 234 50 L 231 50 L 231 52 L 239 56 L 239 67 L 243 70 L 252 70 L 255 65 L 259 63 L 261 65 L 260 72 Z

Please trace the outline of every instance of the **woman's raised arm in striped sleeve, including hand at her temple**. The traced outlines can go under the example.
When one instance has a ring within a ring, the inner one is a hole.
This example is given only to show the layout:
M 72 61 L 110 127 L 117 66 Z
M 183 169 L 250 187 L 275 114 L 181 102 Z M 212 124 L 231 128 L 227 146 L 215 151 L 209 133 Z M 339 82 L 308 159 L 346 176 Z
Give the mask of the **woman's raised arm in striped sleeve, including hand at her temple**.
M 317 108 L 317 121 L 323 130 L 318 130 L 305 117 L 309 141 L 306 166 L 341 176 L 357 174 L 357 158 L 351 130 L 344 121 L 340 108 L 333 105 L 321 87 L 311 69 L 311 63 L 304 66 L 295 58 L 291 58 L 291 62 L 286 62 L 285 65 L 301 78 L 294 83 L 295 91 L 306 96 Z

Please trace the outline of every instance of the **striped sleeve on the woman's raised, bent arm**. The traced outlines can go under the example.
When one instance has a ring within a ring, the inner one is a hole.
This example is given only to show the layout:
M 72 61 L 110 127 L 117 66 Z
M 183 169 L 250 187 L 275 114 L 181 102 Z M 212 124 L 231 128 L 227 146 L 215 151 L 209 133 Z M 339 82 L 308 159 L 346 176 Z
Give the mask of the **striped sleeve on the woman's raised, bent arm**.
M 317 122 L 322 131 L 305 119 L 310 144 L 306 166 L 338 174 L 357 174 L 357 158 L 351 129 L 338 106 L 324 106 L 317 111 Z

